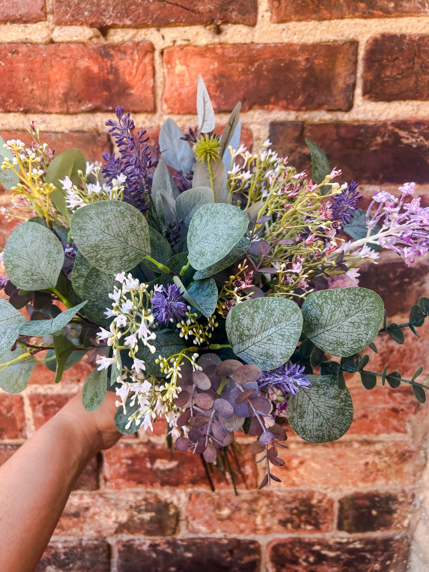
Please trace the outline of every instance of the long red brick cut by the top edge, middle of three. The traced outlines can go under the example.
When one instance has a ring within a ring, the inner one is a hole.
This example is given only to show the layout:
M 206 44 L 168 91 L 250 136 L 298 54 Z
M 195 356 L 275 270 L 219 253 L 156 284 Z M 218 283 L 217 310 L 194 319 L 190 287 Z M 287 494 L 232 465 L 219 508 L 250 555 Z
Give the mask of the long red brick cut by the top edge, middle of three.
M 216 22 L 256 24 L 256 0 L 54 0 L 55 23 L 105 27 L 185 26 Z

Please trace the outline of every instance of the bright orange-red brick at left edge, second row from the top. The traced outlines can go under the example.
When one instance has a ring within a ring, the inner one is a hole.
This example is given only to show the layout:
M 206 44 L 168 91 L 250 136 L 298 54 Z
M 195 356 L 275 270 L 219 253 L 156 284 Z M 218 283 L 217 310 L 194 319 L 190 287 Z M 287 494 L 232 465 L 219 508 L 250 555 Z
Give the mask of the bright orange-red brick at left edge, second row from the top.
M 150 43 L 3 44 L 0 62 L 1 112 L 154 111 Z

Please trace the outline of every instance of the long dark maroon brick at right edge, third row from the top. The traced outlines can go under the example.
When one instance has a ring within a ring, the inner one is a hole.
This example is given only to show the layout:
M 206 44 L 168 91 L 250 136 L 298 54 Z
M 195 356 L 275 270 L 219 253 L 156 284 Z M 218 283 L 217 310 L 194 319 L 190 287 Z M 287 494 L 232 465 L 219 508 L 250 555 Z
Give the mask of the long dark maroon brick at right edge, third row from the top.
M 269 138 L 289 165 L 309 169 L 305 137 L 327 153 L 332 166 L 343 170 L 341 181 L 429 182 L 427 147 L 429 121 L 303 122 L 270 124 Z

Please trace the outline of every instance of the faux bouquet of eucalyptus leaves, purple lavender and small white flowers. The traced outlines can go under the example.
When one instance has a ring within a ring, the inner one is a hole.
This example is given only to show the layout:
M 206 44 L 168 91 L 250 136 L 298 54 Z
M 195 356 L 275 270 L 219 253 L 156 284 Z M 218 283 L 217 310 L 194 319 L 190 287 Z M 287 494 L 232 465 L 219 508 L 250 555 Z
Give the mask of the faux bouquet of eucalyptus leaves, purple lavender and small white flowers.
M 168 119 L 154 148 L 118 106 L 106 124 L 118 154 L 104 164 L 78 149 L 54 158 L 34 123 L 30 148 L 1 141 L 0 182 L 15 197 L 7 215 L 25 222 L 3 252 L 0 387 L 22 391 L 39 352 L 55 382 L 88 353 L 86 410 L 116 391 L 122 433 L 164 416 L 169 442 L 201 455 L 206 470 L 231 471 L 242 429 L 267 466 L 261 488 L 280 480 L 271 466 L 284 464 L 286 419 L 313 443 L 348 430 L 343 372 L 360 372 L 368 390 L 378 377 L 411 384 L 424 403 L 422 367 L 411 380 L 368 371 L 360 352 L 376 351 L 378 335 L 399 344 L 403 328 L 418 335 L 429 299 L 408 323 L 387 325 L 358 271 L 382 248 L 408 265 L 426 254 L 429 209 L 408 197 L 413 183 L 358 209 L 358 183 L 335 182 L 340 170 L 309 140 L 311 179 L 269 141 L 246 150 L 240 104 L 217 135 L 201 78 L 197 111 L 198 128 L 182 133 Z

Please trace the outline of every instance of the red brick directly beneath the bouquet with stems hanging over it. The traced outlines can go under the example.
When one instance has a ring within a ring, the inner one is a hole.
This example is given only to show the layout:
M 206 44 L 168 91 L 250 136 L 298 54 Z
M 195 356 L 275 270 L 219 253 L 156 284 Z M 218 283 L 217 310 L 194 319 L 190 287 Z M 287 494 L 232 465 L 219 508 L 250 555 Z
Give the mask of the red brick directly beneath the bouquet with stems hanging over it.
M 255 459 L 247 448 L 240 452 L 241 470 L 249 487 L 256 485 Z M 231 460 L 232 462 L 232 460 Z M 237 488 L 244 488 L 243 480 L 237 475 L 234 463 Z M 209 488 L 208 481 L 198 455 L 180 452 L 173 446 L 173 458 L 166 446 L 154 444 L 120 442 L 104 451 L 104 475 L 108 488 L 122 487 L 187 487 Z M 225 479 L 217 469 L 212 474 L 216 488 L 231 488 L 231 480 Z

